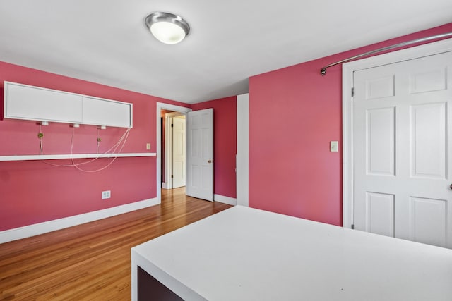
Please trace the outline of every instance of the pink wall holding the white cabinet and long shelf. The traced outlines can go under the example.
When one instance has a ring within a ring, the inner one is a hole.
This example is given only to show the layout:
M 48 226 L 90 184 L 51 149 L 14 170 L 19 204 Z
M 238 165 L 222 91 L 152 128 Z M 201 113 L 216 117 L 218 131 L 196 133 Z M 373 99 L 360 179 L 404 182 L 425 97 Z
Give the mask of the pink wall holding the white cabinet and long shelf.
M 1 100 L 4 80 L 131 102 L 133 129 L 122 152 L 155 152 L 157 102 L 189 106 L 4 62 L 0 62 Z M 73 129 L 68 124 L 50 123 L 42 130 L 44 154 L 71 152 Z M 81 125 L 75 130 L 73 153 L 95 153 L 97 128 Z M 40 154 L 38 132 L 39 125 L 32 121 L 0 121 L 0 156 Z M 101 130 L 100 152 L 105 152 L 124 132 L 123 128 Z M 145 149 L 148 142 L 150 151 Z M 83 160 L 77 160 L 80 161 Z M 95 170 L 109 161 L 98 159 L 83 168 Z M 70 160 L 48 162 L 70 164 Z M 157 195 L 155 176 L 155 156 L 118 158 L 109 168 L 97 173 L 83 173 L 73 167 L 50 166 L 43 161 L 0 162 L 0 231 L 152 199 Z M 111 199 L 102 200 L 102 190 L 111 190 Z

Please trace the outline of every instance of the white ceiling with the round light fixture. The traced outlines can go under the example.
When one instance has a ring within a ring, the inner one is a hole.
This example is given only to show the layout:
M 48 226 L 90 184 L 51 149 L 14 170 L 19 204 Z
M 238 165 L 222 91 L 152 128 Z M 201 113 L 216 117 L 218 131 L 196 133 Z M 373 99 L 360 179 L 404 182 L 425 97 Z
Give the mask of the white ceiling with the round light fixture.
M 143 20 L 185 18 L 166 45 Z M 451 0 L 1 0 L 0 61 L 195 103 L 251 75 L 451 22 Z M 319 66 L 319 69 L 322 66 Z

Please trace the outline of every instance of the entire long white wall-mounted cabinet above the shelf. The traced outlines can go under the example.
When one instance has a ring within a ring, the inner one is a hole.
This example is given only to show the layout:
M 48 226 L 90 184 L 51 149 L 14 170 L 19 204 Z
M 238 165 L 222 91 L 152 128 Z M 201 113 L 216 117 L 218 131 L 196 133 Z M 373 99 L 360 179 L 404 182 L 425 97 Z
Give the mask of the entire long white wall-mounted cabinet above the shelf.
M 4 118 L 132 127 L 132 104 L 5 82 Z

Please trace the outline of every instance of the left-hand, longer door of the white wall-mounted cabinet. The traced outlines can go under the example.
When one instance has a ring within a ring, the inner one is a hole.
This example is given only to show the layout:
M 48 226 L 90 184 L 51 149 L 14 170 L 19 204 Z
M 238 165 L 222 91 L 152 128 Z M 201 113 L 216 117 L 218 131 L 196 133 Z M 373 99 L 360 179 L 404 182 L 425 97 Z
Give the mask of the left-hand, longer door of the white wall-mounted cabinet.
M 82 97 L 23 85 L 5 85 L 5 118 L 81 123 Z

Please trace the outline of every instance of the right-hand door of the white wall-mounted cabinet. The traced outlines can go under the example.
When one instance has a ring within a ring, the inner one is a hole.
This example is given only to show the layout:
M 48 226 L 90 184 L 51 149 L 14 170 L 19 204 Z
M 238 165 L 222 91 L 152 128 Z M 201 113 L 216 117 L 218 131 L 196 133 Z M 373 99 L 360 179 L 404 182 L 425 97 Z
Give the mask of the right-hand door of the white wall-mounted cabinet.
M 83 97 L 83 123 L 131 128 L 131 116 L 131 104 Z

